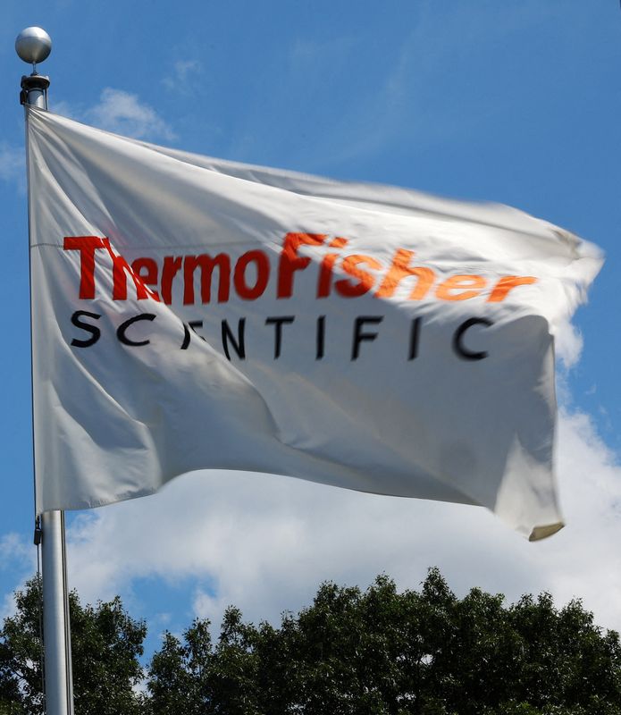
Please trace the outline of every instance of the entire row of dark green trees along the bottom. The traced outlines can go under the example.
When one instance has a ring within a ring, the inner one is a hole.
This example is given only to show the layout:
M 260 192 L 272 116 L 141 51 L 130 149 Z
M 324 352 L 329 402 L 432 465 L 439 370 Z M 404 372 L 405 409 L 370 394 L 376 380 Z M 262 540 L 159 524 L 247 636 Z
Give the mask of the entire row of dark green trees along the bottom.
M 0 631 L 0 715 L 42 712 L 38 585 Z M 621 644 L 580 601 L 462 599 L 437 569 L 419 591 L 388 576 L 326 583 L 278 627 L 226 611 L 166 633 L 146 672 L 143 623 L 117 598 L 71 595 L 76 713 L 146 715 L 621 715 Z M 144 694 L 137 694 L 141 685 Z

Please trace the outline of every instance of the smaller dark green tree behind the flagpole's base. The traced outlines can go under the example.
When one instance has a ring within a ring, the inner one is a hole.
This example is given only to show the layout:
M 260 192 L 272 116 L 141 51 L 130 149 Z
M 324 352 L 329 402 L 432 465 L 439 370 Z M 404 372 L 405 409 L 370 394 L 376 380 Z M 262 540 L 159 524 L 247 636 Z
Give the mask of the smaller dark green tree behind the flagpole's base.
M 0 713 L 44 712 L 40 583 L 32 578 L 15 593 L 15 615 L 0 630 Z M 70 594 L 75 710 L 80 715 L 133 715 L 142 711 L 136 692 L 143 670 L 139 657 L 147 635 L 144 622 L 123 610 L 122 601 L 80 603 Z

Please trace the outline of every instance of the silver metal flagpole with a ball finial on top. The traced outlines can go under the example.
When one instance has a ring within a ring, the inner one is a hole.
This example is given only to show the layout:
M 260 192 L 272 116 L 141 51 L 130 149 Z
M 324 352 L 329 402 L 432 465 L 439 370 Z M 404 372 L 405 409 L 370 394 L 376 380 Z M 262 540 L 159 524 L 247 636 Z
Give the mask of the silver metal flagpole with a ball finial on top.
M 32 74 L 21 78 L 21 104 L 46 110 L 50 81 L 48 77 L 38 74 L 37 63 L 43 62 L 50 54 L 52 40 L 43 29 L 26 28 L 15 40 L 15 49 L 24 62 L 32 64 L 33 69 Z M 26 150 L 28 152 L 28 132 Z M 29 191 L 29 204 L 31 200 Z M 46 715 L 73 715 L 71 631 L 62 511 L 47 511 L 41 516 L 41 543 Z

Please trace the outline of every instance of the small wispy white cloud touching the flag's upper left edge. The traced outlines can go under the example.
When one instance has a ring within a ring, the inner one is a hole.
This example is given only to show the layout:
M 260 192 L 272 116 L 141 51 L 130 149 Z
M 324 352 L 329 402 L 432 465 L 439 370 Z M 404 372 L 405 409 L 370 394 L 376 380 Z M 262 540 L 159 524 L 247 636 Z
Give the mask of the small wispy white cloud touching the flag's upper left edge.
M 176 139 L 170 125 L 153 107 L 142 102 L 138 95 L 122 89 L 106 87 L 97 104 L 87 108 L 66 101 L 55 102 L 51 108 L 56 114 L 88 122 L 125 137 L 167 141 Z

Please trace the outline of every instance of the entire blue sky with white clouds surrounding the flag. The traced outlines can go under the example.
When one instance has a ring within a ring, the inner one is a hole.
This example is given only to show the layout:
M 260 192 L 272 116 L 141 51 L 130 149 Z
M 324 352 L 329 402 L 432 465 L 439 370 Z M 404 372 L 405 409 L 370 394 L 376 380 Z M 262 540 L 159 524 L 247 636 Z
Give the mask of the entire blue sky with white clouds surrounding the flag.
M 481 509 L 281 477 L 189 475 L 70 517 L 70 580 L 164 627 L 297 610 L 318 583 L 581 596 L 621 627 L 621 11 L 617 0 L 227 4 L 4 0 L 0 597 L 32 572 L 28 255 L 17 33 L 51 35 L 50 105 L 140 139 L 248 163 L 508 203 L 607 254 L 561 336 L 558 475 L 568 526 L 529 544 Z

